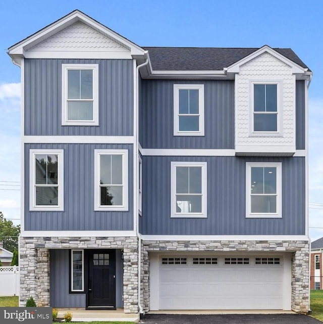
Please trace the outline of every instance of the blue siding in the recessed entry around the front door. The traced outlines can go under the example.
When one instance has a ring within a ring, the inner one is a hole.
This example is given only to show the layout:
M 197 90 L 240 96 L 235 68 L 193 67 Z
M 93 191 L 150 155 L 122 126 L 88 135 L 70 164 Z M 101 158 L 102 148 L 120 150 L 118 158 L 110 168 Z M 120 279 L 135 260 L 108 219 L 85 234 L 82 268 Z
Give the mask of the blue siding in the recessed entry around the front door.
M 85 307 L 86 296 L 82 293 L 70 294 L 70 253 L 69 250 L 49 250 L 50 258 L 50 306 Z M 84 279 L 86 280 L 86 278 Z M 85 282 L 84 282 L 85 283 Z M 85 283 L 86 284 L 86 283 Z M 86 287 L 86 285 L 85 285 Z M 123 307 L 123 260 L 122 251 L 116 250 L 116 307 Z

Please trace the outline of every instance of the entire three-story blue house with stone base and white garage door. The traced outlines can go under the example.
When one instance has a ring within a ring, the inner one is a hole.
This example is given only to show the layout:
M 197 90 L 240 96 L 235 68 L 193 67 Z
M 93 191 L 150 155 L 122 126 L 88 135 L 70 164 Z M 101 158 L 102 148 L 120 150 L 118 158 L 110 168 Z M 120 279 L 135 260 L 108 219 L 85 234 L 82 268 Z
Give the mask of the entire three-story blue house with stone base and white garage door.
M 144 48 L 76 10 L 9 55 L 22 306 L 309 310 L 312 72 L 291 49 Z

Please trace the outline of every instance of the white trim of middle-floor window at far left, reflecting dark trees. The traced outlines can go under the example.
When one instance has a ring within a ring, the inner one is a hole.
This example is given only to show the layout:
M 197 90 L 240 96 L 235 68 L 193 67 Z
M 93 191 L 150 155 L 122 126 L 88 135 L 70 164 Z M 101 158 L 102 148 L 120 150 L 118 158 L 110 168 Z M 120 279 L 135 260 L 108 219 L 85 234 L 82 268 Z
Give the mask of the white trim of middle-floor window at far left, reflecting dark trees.
M 36 206 L 36 161 L 37 154 L 58 155 L 58 205 Z M 64 150 L 29 150 L 29 210 L 30 211 L 63 211 L 64 210 Z

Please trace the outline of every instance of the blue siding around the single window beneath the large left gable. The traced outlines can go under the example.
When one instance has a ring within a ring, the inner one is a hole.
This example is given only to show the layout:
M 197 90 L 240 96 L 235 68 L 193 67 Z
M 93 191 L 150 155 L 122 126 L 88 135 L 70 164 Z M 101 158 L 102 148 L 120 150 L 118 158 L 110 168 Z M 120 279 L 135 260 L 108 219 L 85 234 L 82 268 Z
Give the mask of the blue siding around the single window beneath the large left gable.
M 99 65 L 99 126 L 62 126 L 62 64 Z M 25 135 L 133 135 L 132 60 L 25 60 Z

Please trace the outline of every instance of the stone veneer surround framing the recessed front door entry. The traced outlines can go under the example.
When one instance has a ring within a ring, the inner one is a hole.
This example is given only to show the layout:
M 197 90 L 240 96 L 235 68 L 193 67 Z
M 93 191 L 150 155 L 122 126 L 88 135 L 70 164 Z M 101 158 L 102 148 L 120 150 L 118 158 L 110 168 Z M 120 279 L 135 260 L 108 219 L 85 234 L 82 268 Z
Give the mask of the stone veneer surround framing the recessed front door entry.
M 49 306 L 49 249 L 123 249 L 124 312 L 138 312 L 137 237 L 20 238 L 20 306 L 32 296 L 37 306 Z

